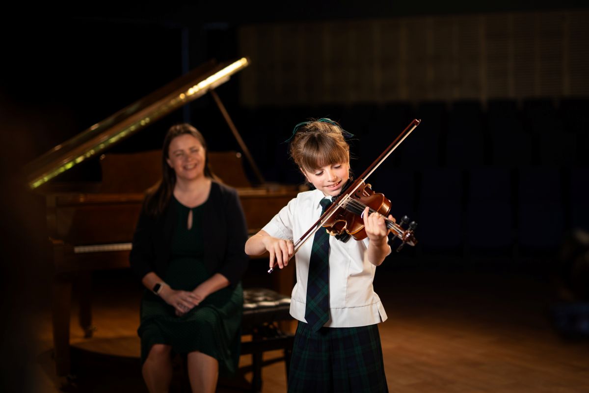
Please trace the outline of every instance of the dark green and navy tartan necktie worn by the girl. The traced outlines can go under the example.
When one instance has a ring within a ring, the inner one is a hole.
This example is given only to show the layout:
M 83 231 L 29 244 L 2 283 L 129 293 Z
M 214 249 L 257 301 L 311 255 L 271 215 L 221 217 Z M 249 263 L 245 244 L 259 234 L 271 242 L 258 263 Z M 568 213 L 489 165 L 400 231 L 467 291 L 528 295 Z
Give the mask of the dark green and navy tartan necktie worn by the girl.
M 321 214 L 332 202 L 323 198 Z M 320 227 L 313 237 L 307 279 L 305 320 L 313 331 L 318 331 L 329 320 L 329 233 Z

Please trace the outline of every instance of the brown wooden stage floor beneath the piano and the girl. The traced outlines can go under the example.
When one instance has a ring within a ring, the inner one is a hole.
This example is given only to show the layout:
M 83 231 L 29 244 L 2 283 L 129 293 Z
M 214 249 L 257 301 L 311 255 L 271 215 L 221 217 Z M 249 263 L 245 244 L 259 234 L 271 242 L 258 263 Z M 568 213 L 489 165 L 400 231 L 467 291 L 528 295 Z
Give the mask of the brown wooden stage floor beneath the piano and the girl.
M 553 328 L 550 280 L 505 265 L 408 266 L 379 267 L 375 280 L 389 317 L 379 325 L 389 391 L 589 392 L 589 340 L 564 339 Z M 83 338 L 75 309 L 72 315 L 77 391 L 147 391 L 136 335 L 140 288 L 124 272 L 94 280 L 94 338 Z M 32 384 L 34 391 L 58 392 L 49 311 L 39 321 Z M 279 356 L 268 352 L 264 359 Z M 241 356 L 246 379 L 250 364 Z M 237 385 L 223 381 L 218 391 L 241 391 Z M 263 392 L 286 392 L 284 362 L 263 368 Z

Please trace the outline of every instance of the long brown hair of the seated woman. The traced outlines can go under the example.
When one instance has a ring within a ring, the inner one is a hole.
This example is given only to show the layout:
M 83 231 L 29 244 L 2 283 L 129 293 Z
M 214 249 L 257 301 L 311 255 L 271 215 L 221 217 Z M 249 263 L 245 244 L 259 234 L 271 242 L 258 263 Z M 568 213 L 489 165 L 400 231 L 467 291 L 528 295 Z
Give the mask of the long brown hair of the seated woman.
M 209 151 L 207 149 L 207 143 L 204 140 L 203 134 L 201 134 L 196 128 L 188 123 L 176 124 L 171 126 L 164 138 L 164 146 L 162 147 L 161 154 L 161 180 L 154 184 L 149 190 L 147 190 L 147 196 L 145 197 L 145 211 L 150 216 L 158 216 L 166 210 L 168 203 L 174 192 L 176 186 L 176 171 L 168 164 L 168 158 L 170 150 L 170 143 L 178 136 L 188 134 L 191 135 L 203 145 L 204 148 L 204 176 L 210 177 L 211 179 L 217 180 L 213 172 L 209 167 Z

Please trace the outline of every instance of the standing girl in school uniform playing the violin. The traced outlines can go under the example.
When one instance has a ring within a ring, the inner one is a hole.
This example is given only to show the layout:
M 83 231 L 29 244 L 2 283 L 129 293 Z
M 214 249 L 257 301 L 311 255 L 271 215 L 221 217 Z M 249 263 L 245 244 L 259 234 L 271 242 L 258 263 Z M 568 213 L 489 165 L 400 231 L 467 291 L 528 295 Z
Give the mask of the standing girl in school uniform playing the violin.
M 349 145 L 335 121 L 297 124 L 290 156 L 315 190 L 299 193 L 246 243 L 248 255 L 270 254 L 283 269 L 299 239 L 349 179 Z M 299 323 L 290 362 L 289 392 L 388 392 L 379 322 L 386 313 L 372 282 L 391 253 L 384 217 L 363 213 L 368 237 L 345 242 L 320 227 L 295 255 L 290 314 Z M 389 220 L 393 220 L 389 216 Z

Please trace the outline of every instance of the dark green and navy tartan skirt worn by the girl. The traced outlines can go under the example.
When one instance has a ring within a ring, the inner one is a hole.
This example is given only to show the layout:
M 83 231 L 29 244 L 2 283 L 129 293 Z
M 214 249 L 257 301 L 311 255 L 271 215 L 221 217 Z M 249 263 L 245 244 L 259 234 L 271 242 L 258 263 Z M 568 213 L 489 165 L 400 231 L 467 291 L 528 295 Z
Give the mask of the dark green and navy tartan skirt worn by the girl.
M 388 392 L 377 325 L 320 328 L 299 322 L 289 393 Z

